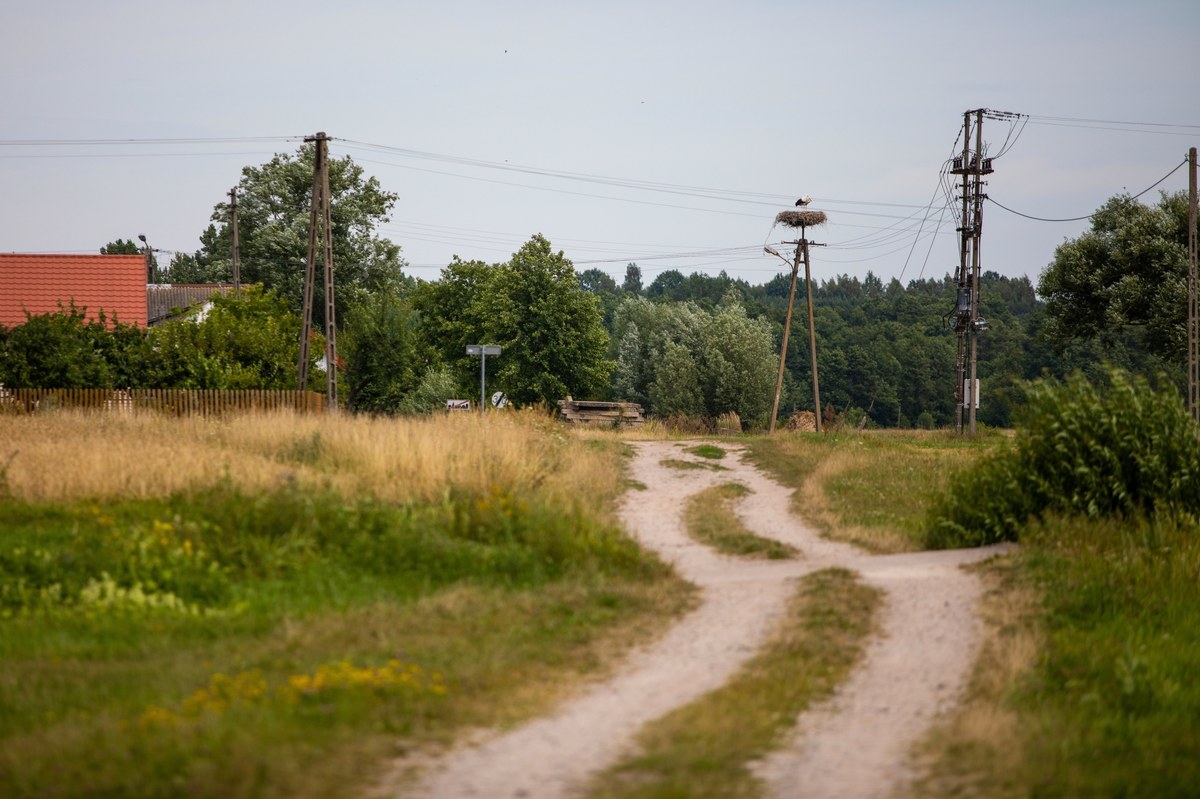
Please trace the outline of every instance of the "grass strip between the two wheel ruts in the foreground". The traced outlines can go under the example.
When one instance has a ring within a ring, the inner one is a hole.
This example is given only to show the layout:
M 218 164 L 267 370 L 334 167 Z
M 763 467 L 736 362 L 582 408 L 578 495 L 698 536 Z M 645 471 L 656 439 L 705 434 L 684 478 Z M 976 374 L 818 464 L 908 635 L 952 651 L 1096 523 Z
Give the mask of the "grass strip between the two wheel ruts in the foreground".
M 750 764 L 850 672 L 880 601 L 842 569 L 804 577 L 762 650 L 719 690 L 652 722 L 636 755 L 593 780 L 589 799 L 761 795 Z

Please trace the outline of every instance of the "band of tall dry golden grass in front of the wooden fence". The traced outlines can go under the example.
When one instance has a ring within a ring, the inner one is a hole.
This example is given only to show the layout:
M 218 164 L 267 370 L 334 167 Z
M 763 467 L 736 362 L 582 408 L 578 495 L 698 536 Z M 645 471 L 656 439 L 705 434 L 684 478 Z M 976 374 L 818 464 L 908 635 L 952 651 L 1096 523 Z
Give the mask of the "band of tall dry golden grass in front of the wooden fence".
M 420 419 L 290 413 L 229 420 L 55 413 L 0 416 L 0 491 L 36 501 L 151 498 L 229 479 L 326 485 L 388 501 L 449 487 L 538 491 L 575 506 L 616 495 L 611 455 L 536 414 Z

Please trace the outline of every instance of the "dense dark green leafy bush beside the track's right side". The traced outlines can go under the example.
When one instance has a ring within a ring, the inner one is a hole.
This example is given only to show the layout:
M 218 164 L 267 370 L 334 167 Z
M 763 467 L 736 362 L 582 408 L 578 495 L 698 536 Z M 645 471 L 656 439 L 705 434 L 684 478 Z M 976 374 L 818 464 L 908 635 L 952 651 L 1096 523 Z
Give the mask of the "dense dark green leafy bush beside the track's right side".
M 952 481 L 925 543 L 1015 541 L 1048 512 L 1200 516 L 1200 428 L 1178 394 L 1116 368 L 1027 385 L 1014 445 Z

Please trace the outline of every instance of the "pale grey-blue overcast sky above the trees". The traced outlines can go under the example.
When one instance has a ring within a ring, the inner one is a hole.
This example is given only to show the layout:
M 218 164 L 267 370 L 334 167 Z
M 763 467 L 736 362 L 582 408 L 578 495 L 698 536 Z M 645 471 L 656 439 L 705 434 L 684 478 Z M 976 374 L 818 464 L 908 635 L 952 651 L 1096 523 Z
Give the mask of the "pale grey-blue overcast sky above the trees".
M 194 252 L 242 167 L 324 131 L 398 196 L 378 233 L 422 280 L 540 233 L 618 282 L 758 284 L 803 194 L 815 278 L 940 278 L 964 112 L 1022 115 L 984 121 L 990 200 L 1086 216 L 1200 145 L 1198 41 L 1194 0 L 25 2 L 0 26 L 0 252 Z M 982 266 L 1036 283 L 1087 226 L 989 202 Z

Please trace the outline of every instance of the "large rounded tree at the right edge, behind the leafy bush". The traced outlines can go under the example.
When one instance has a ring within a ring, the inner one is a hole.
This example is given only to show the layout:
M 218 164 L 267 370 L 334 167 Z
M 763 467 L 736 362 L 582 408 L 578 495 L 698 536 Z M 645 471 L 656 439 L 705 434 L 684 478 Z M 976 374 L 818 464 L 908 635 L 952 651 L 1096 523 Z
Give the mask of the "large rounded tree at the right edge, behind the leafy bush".
M 1180 361 L 1186 348 L 1187 197 L 1157 205 L 1109 199 L 1091 230 L 1064 241 L 1042 272 L 1046 332 L 1060 350 L 1097 340 L 1108 350 L 1141 350 Z

